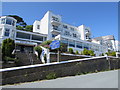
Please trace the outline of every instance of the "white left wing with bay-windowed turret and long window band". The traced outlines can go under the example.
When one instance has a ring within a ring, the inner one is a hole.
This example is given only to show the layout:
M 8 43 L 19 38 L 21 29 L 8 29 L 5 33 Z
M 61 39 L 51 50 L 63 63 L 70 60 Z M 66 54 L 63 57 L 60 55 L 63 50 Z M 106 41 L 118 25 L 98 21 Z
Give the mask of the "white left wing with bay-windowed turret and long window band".
M 4 39 L 11 38 L 15 40 L 19 50 L 31 49 L 33 51 L 34 46 L 46 41 L 46 34 L 17 30 L 16 22 L 17 20 L 12 17 L 0 17 L 0 44 Z

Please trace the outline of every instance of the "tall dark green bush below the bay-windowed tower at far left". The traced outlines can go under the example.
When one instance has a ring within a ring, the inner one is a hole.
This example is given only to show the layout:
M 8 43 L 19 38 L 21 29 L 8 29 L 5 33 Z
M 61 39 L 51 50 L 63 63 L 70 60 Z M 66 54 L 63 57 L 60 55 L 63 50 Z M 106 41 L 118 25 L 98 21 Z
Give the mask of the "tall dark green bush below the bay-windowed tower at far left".
M 14 40 L 8 38 L 2 42 L 2 58 L 4 60 L 5 56 L 12 57 L 12 52 L 15 49 Z

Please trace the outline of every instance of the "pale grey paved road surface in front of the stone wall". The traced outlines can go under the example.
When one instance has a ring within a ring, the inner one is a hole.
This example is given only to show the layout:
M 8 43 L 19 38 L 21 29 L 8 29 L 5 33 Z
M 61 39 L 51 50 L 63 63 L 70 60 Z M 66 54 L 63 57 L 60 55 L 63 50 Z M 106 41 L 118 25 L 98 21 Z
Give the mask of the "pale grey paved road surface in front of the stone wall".
M 6 85 L 4 88 L 118 88 L 118 70 Z

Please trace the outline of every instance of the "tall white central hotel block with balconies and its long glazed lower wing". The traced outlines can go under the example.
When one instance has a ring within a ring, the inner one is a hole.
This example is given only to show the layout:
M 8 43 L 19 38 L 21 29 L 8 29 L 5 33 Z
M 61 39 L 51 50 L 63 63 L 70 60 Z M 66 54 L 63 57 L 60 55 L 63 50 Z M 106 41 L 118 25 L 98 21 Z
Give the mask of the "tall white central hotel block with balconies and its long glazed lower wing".
M 38 30 L 38 25 L 40 26 Z M 91 31 L 89 27 L 80 25 L 78 27 L 62 22 L 60 15 L 55 15 L 48 11 L 40 21 L 35 21 L 33 31 L 47 34 L 47 40 L 60 38 L 61 42 L 66 43 L 68 48 L 74 51 L 83 51 L 84 48 L 93 50 L 96 56 L 108 51 L 107 46 L 103 46 L 91 41 Z

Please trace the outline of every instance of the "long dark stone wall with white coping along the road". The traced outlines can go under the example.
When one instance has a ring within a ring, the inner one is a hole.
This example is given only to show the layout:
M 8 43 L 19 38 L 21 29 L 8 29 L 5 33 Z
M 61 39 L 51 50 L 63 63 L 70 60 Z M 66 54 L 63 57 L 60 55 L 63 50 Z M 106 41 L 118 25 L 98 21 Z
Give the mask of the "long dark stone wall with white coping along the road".
M 2 84 L 14 84 L 21 82 L 30 82 L 46 79 L 50 73 L 55 73 L 56 77 L 71 76 L 88 72 L 105 71 L 109 69 L 118 69 L 120 59 L 109 59 L 105 57 L 82 59 L 77 61 L 69 61 L 59 64 L 50 64 L 36 66 L 31 68 L 21 68 L 9 71 L 3 71 Z M 110 62 L 109 62 L 110 61 Z

